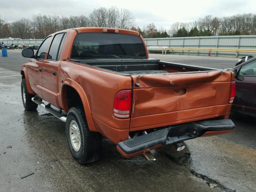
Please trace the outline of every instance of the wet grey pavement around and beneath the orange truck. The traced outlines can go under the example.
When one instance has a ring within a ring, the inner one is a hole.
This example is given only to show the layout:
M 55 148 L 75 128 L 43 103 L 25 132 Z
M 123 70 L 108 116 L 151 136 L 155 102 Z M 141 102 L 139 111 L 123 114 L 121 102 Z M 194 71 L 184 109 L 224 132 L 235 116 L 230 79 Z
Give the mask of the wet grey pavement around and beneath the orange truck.
M 100 160 L 80 165 L 63 122 L 40 107 L 24 111 L 19 55 L 9 56 L 0 57 L 0 192 L 256 191 L 255 118 L 232 114 L 232 133 L 188 140 L 182 152 L 154 150 L 156 161 L 123 158 L 104 139 Z

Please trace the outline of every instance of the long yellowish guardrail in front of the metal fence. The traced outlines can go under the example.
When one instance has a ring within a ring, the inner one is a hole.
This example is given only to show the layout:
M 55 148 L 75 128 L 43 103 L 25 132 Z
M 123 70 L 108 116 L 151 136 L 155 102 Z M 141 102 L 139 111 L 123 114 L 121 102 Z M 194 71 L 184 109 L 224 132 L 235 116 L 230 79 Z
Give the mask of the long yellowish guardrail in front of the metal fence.
M 236 57 L 238 56 L 239 52 L 253 52 L 256 53 L 256 49 L 223 49 L 223 48 L 148 48 L 148 50 L 162 50 L 162 54 L 166 54 L 167 50 L 171 50 L 172 53 L 175 50 L 180 50 L 182 51 L 188 51 L 188 55 L 189 55 L 189 51 L 208 51 L 208 56 L 211 55 L 212 51 L 216 52 L 216 56 L 217 56 L 217 52 L 218 51 L 223 51 L 223 52 L 236 52 Z

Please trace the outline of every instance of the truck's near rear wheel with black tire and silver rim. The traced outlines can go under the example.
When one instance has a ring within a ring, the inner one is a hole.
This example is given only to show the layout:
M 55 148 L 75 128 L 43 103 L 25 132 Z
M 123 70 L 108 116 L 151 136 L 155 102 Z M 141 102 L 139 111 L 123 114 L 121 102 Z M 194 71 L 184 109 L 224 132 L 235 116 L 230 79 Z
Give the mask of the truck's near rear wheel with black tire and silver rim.
M 68 111 L 66 135 L 70 152 L 78 163 L 87 164 L 100 158 L 102 135 L 89 130 L 82 108 L 72 107 Z M 73 140 L 73 142 L 71 142 L 71 140 Z

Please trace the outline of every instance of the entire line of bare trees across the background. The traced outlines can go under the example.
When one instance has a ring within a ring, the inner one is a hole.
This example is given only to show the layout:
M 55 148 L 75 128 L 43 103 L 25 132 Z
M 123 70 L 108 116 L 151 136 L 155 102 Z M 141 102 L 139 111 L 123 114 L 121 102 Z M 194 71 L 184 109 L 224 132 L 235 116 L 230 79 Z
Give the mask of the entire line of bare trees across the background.
M 35 14 L 32 19 L 22 18 L 8 23 L 0 17 L 0 38 L 44 39 L 54 32 L 78 27 L 112 27 L 131 29 L 144 38 L 254 35 L 256 34 L 256 14 L 238 14 L 217 18 L 211 15 L 193 22 L 176 22 L 168 31 L 157 29 L 154 23 L 143 28 L 135 26 L 135 18 L 130 10 L 117 8 L 94 9 L 88 16 L 56 16 Z

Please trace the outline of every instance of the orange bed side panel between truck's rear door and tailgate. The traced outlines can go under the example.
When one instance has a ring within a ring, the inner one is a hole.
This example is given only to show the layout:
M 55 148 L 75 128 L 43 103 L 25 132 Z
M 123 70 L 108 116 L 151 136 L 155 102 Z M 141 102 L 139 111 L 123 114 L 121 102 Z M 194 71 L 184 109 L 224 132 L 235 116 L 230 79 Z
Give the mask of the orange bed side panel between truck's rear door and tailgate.
M 77 82 L 84 90 L 96 130 L 115 143 L 128 139 L 130 119 L 115 118 L 113 104 L 114 97 L 120 90 L 131 90 L 131 78 L 88 65 L 69 61 L 62 62 L 60 94 L 64 83 L 70 80 Z M 61 96 L 58 100 L 62 108 L 66 108 L 62 103 Z

